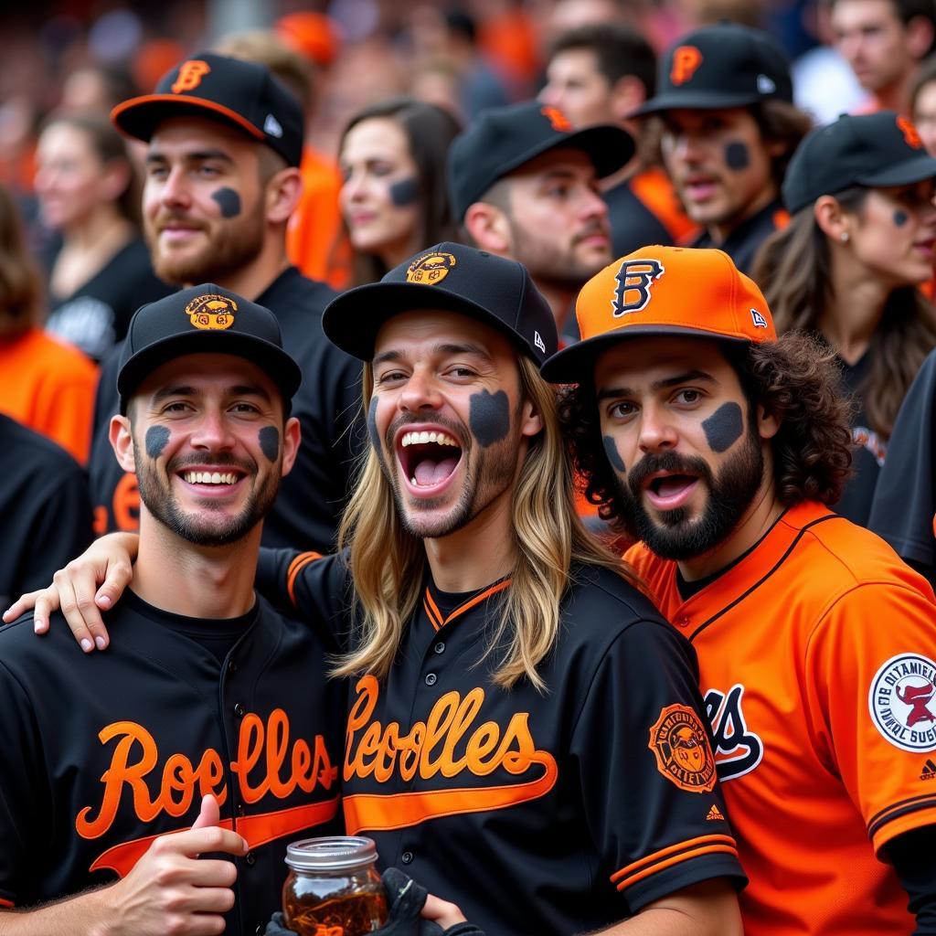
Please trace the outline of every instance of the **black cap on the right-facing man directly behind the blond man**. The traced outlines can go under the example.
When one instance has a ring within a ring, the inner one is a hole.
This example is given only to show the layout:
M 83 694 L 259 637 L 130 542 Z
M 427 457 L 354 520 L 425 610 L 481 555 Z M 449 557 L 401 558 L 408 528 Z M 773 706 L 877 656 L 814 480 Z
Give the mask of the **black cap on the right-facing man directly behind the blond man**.
M 539 101 L 482 110 L 448 151 L 452 212 L 461 221 L 491 185 L 534 156 L 562 148 L 581 150 L 599 179 L 617 172 L 635 152 L 634 138 L 620 126 L 573 130 L 563 112 Z

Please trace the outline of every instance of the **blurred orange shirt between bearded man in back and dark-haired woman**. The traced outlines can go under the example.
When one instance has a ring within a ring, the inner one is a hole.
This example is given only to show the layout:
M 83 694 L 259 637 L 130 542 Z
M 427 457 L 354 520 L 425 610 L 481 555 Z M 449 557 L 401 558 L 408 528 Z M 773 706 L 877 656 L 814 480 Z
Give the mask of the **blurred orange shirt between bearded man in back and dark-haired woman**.
M 341 173 L 306 146 L 300 174 L 302 197 L 286 227 L 286 253 L 306 276 L 344 289 L 351 282 L 351 245 L 338 207 Z

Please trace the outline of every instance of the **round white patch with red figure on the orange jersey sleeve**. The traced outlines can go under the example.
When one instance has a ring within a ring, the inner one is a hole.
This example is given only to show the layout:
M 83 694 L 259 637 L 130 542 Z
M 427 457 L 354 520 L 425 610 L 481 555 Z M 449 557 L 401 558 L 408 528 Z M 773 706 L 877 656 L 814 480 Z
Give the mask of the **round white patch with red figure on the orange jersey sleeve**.
M 868 709 L 878 731 L 902 751 L 936 751 L 936 663 L 892 656 L 874 675 Z

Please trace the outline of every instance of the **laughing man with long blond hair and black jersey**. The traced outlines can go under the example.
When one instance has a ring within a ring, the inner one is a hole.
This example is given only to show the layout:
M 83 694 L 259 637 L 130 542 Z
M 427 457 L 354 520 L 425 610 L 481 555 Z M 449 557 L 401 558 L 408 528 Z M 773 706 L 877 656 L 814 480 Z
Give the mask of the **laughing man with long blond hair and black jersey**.
M 492 936 L 738 936 L 695 662 L 576 516 L 529 273 L 438 244 L 323 325 L 372 445 L 344 552 L 265 564 L 343 643 L 347 831 Z

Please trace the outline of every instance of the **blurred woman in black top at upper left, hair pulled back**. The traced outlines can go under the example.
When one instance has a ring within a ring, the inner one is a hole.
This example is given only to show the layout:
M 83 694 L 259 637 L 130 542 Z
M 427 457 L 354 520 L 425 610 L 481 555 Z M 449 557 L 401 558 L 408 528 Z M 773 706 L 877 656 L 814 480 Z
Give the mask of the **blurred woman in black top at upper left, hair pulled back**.
M 139 186 L 124 139 L 98 114 L 53 117 L 39 136 L 36 194 L 61 241 L 48 258 L 46 329 L 100 360 L 130 316 L 168 295 L 139 235 Z

